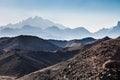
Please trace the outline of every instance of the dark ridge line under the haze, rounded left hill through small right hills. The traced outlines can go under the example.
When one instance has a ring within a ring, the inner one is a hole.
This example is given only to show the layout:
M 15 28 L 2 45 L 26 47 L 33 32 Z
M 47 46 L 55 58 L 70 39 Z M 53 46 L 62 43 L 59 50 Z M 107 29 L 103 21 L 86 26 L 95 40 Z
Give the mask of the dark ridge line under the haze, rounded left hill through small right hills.
M 0 38 L 0 53 L 8 52 L 14 49 L 30 50 L 30 51 L 57 51 L 65 47 L 79 46 L 93 42 L 94 38 L 84 38 L 79 40 L 46 40 L 36 36 L 19 35 L 16 37 L 3 37 Z

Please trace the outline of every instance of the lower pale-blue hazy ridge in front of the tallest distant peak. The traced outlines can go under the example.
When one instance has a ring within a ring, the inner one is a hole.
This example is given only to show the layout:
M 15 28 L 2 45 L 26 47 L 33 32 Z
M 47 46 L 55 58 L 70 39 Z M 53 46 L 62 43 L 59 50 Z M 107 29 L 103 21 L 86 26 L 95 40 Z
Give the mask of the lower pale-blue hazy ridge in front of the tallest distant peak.
M 3 28 L 0 30 L 1 37 L 11 37 L 18 35 L 33 35 L 39 36 L 44 39 L 57 39 L 57 40 L 71 40 L 85 38 L 91 35 L 91 33 L 83 27 L 75 29 L 60 29 L 57 26 L 41 29 L 30 25 L 24 25 L 22 28 Z

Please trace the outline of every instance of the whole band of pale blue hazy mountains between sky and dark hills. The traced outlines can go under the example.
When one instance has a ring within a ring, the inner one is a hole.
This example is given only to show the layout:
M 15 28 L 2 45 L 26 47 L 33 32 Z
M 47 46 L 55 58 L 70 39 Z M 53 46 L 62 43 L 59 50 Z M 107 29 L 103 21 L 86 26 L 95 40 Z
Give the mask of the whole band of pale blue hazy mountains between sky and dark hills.
M 118 37 L 120 34 L 120 22 L 110 29 L 101 29 L 95 33 L 89 32 L 84 27 L 67 28 L 41 17 L 28 18 L 16 24 L 8 24 L 0 27 L 1 37 L 18 35 L 34 35 L 44 39 L 71 40 L 85 37 L 103 38 L 105 36 Z

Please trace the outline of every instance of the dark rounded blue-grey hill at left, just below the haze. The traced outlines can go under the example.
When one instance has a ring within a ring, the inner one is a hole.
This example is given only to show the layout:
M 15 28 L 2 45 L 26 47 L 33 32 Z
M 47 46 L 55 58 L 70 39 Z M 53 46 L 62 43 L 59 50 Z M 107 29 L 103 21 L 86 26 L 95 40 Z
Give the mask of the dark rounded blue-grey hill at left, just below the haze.
M 47 40 L 35 36 L 17 36 L 0 40 L 0 49 L 10 51 L 14 49 L 31 51 L 55 51 L 60 47 L 48 42 Z

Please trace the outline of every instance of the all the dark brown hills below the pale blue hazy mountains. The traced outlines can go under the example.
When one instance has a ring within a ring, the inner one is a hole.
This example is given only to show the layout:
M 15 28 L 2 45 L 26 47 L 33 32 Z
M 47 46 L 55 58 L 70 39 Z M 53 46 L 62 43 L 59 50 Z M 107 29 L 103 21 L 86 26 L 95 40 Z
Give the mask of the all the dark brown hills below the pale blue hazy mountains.
M 3 37 L 0 38 L 0 79 L 109 80 L 112 77 L 114 80 L 120 76 L 116 69 L 120 60 L 119 42 L 119 37 L 70 41 L 29 35 Z

